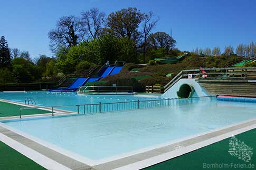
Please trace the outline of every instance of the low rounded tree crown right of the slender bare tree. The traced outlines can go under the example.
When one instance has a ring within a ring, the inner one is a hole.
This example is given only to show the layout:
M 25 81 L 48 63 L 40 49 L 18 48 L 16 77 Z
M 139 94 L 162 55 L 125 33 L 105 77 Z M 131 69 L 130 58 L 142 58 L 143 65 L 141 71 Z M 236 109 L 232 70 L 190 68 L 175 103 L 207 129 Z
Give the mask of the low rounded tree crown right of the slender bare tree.
M 164 32 L 150 34 L 147 41 L 151 47 L 155 49 L 165 48 L 167 52 L 173 49 L 176 43 L 175 39 Z

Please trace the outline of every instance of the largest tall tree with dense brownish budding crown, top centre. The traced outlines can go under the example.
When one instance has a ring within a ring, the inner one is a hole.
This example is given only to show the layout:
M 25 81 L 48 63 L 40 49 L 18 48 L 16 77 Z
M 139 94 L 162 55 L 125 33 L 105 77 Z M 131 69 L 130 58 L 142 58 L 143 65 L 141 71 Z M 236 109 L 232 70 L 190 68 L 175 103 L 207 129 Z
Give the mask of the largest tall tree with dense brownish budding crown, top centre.
M 128 37 L 136 41 L 140 34 L 138 27 L 144 17 L 145 14 L 141 13 L 137 8 L 129 7 L 121 9 L 120 11 L 109 14 L 105 30 L 119 38 Z

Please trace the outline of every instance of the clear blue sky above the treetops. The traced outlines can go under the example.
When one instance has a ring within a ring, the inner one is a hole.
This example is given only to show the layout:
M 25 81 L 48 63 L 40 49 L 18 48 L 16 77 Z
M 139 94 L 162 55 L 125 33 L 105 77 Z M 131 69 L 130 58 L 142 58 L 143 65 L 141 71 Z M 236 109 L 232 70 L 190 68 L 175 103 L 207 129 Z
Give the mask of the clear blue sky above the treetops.
M 154 31 L 169 33 L 172 28 L 176 46 L 183 51 L 214 46 L 223 50 L 256 41 L 256 1 L 252 0 L 8 0 L 0 4 L 0 36 L 11 48 L 27 50 L 33 58 L 53 55 L 48 32 L 61 16 L 79 16 L 92 7 L 106 14 L 126 7 L 153 11 L 160 17 Z

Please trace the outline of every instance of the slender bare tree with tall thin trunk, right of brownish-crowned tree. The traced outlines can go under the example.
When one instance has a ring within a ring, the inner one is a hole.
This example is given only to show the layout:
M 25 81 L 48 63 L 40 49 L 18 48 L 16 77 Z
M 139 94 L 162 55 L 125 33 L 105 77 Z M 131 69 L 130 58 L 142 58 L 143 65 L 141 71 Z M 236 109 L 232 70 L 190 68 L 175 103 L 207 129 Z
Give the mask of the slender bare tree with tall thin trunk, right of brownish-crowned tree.
M 146 55 L 146 43 L 148 35 L 151 33 L 152 29 L 156 26 L 156 23 L 159 21 L 159 18 L 152 21 L 153 12 L 149 12 L 145 15 L 143 22 L 143 63 L 145 63 L 145 55 Z

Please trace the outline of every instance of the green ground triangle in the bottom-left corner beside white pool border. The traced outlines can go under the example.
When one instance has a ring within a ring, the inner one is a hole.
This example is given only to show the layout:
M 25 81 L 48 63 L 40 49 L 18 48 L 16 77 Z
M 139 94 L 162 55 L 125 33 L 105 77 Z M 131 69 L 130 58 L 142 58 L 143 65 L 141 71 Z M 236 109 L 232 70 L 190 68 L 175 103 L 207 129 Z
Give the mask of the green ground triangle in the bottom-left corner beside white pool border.
M 0 169 L 3 170 L 40 170 L 44 167 L 0 142 Z

